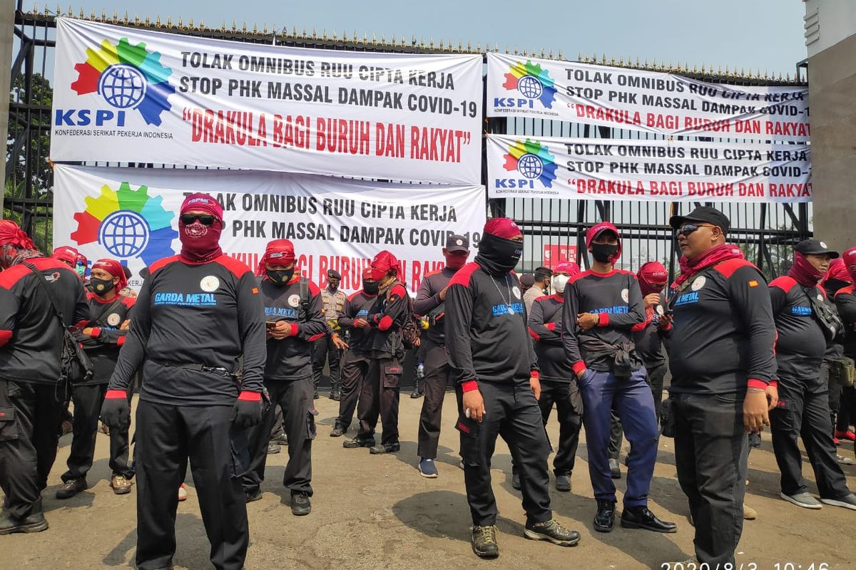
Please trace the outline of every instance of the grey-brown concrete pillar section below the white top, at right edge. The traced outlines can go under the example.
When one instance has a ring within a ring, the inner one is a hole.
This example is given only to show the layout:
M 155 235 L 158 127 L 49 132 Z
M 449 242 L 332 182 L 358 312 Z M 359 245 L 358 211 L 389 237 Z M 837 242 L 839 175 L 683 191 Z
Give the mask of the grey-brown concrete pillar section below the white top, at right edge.
M 808 61 L 814 232 L 856 246 L 856 35 Z

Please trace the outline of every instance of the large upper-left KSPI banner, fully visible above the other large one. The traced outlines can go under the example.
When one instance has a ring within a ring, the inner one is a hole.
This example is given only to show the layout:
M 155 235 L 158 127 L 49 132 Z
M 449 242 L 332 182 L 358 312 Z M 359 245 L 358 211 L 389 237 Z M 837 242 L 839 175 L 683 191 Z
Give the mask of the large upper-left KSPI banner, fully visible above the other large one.
M 59 18 L 51 120 L 54 161 L 479 184 L 482 59 Z

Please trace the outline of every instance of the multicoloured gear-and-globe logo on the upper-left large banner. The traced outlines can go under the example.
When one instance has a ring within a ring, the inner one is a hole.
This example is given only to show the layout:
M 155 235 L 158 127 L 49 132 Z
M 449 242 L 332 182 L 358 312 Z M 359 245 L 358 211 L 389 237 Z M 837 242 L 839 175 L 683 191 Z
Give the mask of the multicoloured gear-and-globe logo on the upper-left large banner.
M 161 65 L 160 52 L 122 38 L 116 45 L 105 39 L 101 49 L 87 49 L 86 56 L 86 62 L 74 66 L 78 79 L 71 88 L 78 95 L 98 91 L 113 107 L 137 109 L 147 125 L 160 126 L 160 115 L 172 109 L 168 98 L 175 93 L 168 81 L 172 70 Z

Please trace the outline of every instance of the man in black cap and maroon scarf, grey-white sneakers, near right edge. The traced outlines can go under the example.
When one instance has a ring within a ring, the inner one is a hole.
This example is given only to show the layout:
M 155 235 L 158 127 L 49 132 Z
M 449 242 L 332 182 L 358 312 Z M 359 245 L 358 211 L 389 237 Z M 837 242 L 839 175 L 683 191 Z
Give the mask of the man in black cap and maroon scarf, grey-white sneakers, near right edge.
M 779 402 L 770 412 L 770 431 L 782 473 L 779 495 L 783 499 L 803 508 L 821 508 L 823 502 L 856 510 L 856 496 L 847 489 L 847 479 L 835 459 L 829 382 L 820 373 L 827 339 L 817 320 L 816 306 L 824 303 L 825 297 L 817 282 L 833 257 L 838 257 L 838 252 L 829 250 L 822 241 L 806 239 L 794 247 L 794 265 L 788 275 L 770 283 L 779 371 Z M 821 502 L 805 486 L 797 444 L 800 437 L 814 469 Z

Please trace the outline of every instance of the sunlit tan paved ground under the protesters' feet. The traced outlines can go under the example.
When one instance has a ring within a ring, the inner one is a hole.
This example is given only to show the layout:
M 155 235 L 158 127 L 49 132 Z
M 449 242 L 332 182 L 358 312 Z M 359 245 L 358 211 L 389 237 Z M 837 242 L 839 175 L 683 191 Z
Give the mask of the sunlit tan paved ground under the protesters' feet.
M 595 502 L 591 498 L 583 439 L 572 478 L 574 490 L 550 491 L 556 518 L 582 534 L 575 548 L 523 538 L 525 516 L 519 493 L 511 488 L 508 448 L 500 440 L 492 475 L 500 508 L 497 526 L 501 554 L 496 561 L 480 561 L 470 549 L 463 473 L 457 467 L 458 438 L 452 427 L 455 397 L 447 394 L 443 408 L 438 479 L 424 479 L 414 467 L 421 403 L 421 399 L 411 400 L 407 393 L 402 393 L 401 452 L 369 455 L 365 449 L 342 449 L 343 438 L 329 437 L 338 407 L 322 396 L 317 401 L 318 439 L 313 446 L 312 514 L 300 518 L 291 514 L 288 492 L 282 488 L 288 454 L 283 449 L 278 455 L 270 455 L 264 498 L 248 506 L 251 544 L 247 570 L 623 570 L 659 568 L 663 562 L 682 561 L 693 553 L 693 527 L 687 521 L 686 498 L 675 480 L 672 440 L 663 438 L 660 442 L 651 485 L 651 509 L 664 520 L 675 520 L 679 529 L 675 534 L 661 535 L 624 530 L 617 525 L 609 534 L 593 531 Z M 548 425 L 548 432 L 555 441 L 558 437 L 555 420 Z M 70 435 L 62 438 L 45 490 L 50 529 L 38 534 L 0 537 L 3 570 L 128 567 L 134 560 L 136 493 L 116 496 L 110 491 L 106 436 L 98 435 L 96 461 L 88 478 L 90 490 L 67 501 L 54 498 L 70 442 Z M 840 452 L 853 457 L 853 446 L 848 444 Z M 828 506 L 809 511 L 782 501 L 778 497 L 778 474 L 769 432 L 764 433 L 763 448 L 752 451 L 749 463 L 746 502 L 758 510 L 759 516 L 758 520 L 746 521 L 738 548 L 739 567 L 742 563 L 743 568 L 750 568 L 749 564 L 754 562 L 758 570 L 821 570 L 820 563 L 825 562 L 828 568 L 856 568 L 853 541 L 856 512 Z M 856 467 L 844 469 L 851 489 L 856 489 Z M 810 491 L 817 493 L 811 467 L 804 464 L 804 472 L 810 480 Z M 625 481 L 617 483 L 621 495 Z M 211 568 L 209 545 L 190 473 L 187 485 L 190 497 L 178 508 L 175 567 Z M 776 567 L 777 562 L 781 566 Z M 786 567 L 787 562 L 794 566 Z M 814 566 L 810 567 L 812 563 Z

